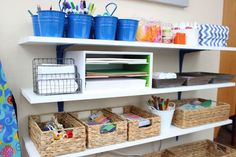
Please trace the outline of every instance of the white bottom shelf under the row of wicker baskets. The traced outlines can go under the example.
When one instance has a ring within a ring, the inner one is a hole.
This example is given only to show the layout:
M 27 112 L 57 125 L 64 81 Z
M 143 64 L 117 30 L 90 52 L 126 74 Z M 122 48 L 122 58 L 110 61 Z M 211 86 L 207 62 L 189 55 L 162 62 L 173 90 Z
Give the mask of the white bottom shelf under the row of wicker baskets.
M 87 156 L 87 155 L 93 155 L 97 153 L 102 153 L 102 152 L 108 152 L 112 150 L 117 150 L 117 149 L 122 149 L 122 148 L 127 148 L 127 147 L 132 147 L 136 145 L 141 145 L 141 144 L 146 144 L 154 141 L 159 141 L 163 139 L 168 139 L 176 136 L 181 136 L 181 135 L 186 135 L 202 130 L 207 130 L 211 128 L 215 128 L 218 126 L 223 126 L 227 124 L 231 124 L 232 120 L 225 120 L 221 122 L 216 122 L 216 123 L 210 123 L 206 125 L 201 125 L 201 126 L 196 126 L 188 129 L 181 129 L 175 126 L 171 126 L 171 129 L 169 132 L 166 133 L 161 133 L 159 136 L 151 137 L 151 138 L 145 138 L 141 140 L 136 140 L 136 141 L 127 141 L 124 143 L 120 144 L 114 144 L 110 146 L 104 146 L 104 147 L 99 147 L 99 148 L 94 148 L 94 149 L 87 149 L 83 152 L 78 152 L 78 153 L 71 153 L 67 155 L 61 155 L 60 157 L 81 157 L 81 156 Z M 29 154 L 30 157 L 40 157 L 40 154 L 38 153 L 36 147 L 34 146 L 34 143 L 31 141 L 29 136 L 23 137 L 24 143 L 26 150 Z

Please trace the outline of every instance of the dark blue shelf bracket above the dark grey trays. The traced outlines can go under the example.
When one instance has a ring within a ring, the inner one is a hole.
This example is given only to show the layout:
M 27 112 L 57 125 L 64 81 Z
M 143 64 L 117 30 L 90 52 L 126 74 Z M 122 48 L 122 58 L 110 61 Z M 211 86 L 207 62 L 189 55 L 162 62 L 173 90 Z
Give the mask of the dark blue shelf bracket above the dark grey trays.
M 180 49 L 179 50 L 179 73 L 183 72 L 184 56 L 189 53 L 199 52 L 201 50 L 189 50 L 189 49 Z M 178 92 L 178 100 L 181 99 L 182 92 Z

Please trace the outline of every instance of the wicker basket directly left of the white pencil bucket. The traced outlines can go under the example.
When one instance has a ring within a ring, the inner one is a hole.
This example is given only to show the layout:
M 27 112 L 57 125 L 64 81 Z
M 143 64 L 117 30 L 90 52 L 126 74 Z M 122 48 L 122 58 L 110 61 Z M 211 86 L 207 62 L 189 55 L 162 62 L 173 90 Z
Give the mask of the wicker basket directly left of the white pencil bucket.
M 112 110 L 112 109 L 108 109 Z M 157 136 L 160 134 L 160 117 L 142 110 L 135 106 L 125 106 L 123 107 L 123 113 L 133 113 L 140 117 L 149 119 L 151 125 L 147 127 L 139 127 L 139 122 L 137 120 L 128 121 L 128 140 L 138 140 L 143 138 L 148 138 L 152 136 Z

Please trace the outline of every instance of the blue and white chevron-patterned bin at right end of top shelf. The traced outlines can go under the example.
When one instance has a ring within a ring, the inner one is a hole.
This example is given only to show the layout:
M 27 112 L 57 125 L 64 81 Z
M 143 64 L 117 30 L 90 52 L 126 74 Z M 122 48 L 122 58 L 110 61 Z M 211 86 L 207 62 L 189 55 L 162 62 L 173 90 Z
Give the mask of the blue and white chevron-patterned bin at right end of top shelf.
M 199 45 L 201 46 L 227 46 L 229 28 L 227 26 L 202 24 L 199 25 Z

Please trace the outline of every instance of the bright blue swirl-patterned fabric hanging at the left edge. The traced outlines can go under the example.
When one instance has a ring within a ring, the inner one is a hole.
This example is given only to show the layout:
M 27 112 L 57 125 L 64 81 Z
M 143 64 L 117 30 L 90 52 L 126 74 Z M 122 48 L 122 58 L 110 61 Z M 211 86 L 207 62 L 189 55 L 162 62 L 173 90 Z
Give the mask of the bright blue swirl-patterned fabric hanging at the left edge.
M 0 157 L 21 157 L 14 98 L 0 62 Z

